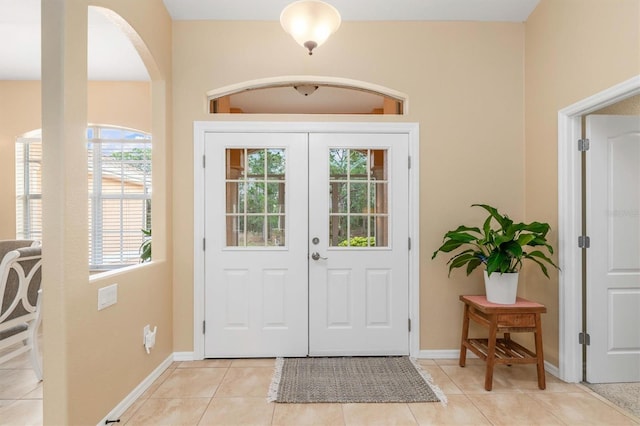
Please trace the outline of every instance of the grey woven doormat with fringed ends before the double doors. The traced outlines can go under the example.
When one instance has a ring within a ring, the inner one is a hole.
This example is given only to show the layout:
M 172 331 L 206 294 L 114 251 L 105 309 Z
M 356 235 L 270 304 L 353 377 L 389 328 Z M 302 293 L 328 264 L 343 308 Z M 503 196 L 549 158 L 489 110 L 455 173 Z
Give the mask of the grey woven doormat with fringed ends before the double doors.
M 442 402 L 446 396 L 409 357 L 278 358 L 270 402 Z

